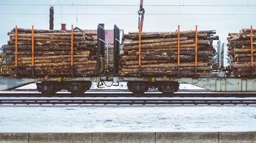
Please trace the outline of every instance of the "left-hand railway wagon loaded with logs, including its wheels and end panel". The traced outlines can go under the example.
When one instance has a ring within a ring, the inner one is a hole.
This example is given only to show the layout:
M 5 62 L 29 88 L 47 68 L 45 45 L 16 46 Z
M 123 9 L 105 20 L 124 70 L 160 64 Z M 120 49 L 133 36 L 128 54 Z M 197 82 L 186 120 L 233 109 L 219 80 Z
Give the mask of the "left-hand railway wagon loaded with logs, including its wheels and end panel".
M 81 94 L 105 74 L 105 29 L 101 24 L 97 34 L 74 31 L 73 26 L 71 30 L 16 26 L 8 35 L 8 44 L 2 47 L 2 90 L 36 82 L 43 94 L 62 89 Z

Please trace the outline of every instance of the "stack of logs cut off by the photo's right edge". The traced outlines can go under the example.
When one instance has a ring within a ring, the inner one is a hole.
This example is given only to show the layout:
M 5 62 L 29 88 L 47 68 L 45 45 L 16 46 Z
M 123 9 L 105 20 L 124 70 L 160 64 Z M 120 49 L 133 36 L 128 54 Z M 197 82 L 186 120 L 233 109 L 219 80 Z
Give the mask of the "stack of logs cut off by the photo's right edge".
M 229 33 L 227 46 L 231 65 L 231 75 L 236 77 L 256 76 L 255 39 L 256 29 L 242 29 L 239 33 Z M 252 64 L 251 59 L 253 60 Z

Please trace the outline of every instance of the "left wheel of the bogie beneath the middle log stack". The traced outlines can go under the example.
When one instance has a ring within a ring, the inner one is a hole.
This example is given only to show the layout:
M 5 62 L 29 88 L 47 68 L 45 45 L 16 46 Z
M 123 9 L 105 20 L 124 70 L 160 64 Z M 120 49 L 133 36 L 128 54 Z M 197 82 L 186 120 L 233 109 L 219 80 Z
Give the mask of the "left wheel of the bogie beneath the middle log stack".
M 148 90 L 148 86 L 145 82 L 128 81 L 127 87 L 128 90 L 135 95 L 142 95 Z

